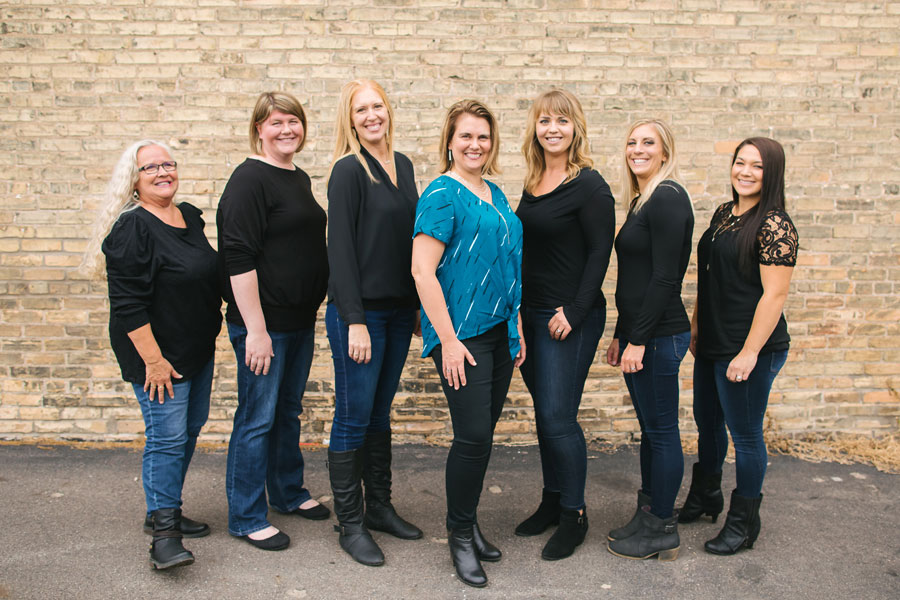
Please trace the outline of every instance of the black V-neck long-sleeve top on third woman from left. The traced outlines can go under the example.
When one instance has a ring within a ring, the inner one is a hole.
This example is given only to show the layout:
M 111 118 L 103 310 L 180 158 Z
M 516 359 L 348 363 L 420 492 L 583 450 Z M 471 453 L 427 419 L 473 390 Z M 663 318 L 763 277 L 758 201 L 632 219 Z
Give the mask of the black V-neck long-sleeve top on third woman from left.
M 410 271 L 416 214 L 412 162 L 394 152 L 397 185 L 362 149 L 373 183 L 356 156 L 334 164 L 328 181 L 328 301 L 348 324 L 365 323 L 366 310 L 416 308 Z

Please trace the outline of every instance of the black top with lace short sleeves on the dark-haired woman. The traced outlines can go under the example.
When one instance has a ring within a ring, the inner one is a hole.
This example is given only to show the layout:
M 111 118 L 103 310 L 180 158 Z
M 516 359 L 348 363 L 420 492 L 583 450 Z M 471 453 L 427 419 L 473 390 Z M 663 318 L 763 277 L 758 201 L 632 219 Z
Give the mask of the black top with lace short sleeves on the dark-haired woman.
M 726 202 L 716 209 L 697 244 L 697 351 L 709 360 L 731 360 L 741 351 L 763 293 L 759 269 L 748 278 L 738 266 L 742 219 L 732 214 L 733 206 Z M 757 242 L 759 264 L 797 264 L 797 229 L 783 210 L 766 215 Z M 787 350 L 790 341 L 782 314 L 760 354 Z

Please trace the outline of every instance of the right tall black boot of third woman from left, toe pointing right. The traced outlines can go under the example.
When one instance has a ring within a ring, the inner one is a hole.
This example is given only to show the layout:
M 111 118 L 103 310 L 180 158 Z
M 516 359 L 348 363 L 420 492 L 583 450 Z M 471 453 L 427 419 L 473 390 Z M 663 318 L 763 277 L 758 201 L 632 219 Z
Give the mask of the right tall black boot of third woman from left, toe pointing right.
M 391 432 L 367 433 L 363 444 L 363 483 L 369 529 L 404 540 L 417 540 L 422 530 L 404 520 L 391 504 Z

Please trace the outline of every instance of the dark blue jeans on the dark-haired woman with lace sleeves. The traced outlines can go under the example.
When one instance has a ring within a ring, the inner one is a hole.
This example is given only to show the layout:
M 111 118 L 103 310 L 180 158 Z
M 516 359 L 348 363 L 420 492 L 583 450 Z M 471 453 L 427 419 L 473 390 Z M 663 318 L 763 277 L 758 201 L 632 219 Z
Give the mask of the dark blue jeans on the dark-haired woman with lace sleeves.
M 728 453 L 728 434 L 734 442 L 736 492 L 757 498 L 762 492 L 769 460 L 763 439 L 763 417 L 775 376 L 787 361 L 787 350 L 760 354 L 746 381 L 725 377 L 730 360 L 694 361 L 694 421 L 699 438 L 697 453 L 707 473 L 720 473 Z

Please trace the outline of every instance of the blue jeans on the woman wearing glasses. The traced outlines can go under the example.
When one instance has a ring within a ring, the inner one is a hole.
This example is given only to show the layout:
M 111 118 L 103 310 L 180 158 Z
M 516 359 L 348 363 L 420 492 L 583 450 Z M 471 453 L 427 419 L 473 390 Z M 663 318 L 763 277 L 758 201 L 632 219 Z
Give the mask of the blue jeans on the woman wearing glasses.
M 186 381 L 173 379 L 175 397 L 166 394 L 163 404 L 151 401 L 142 384 L 134 383 L 134 395 L 144 415 L 144 459 L 141 477 L 147 514 L 161 508 L 181 508 L 181 488 L 194 455 L 197 436 L 209 417 L 213 360 Z M 178 383 L 174 383 L 178 381 Z

